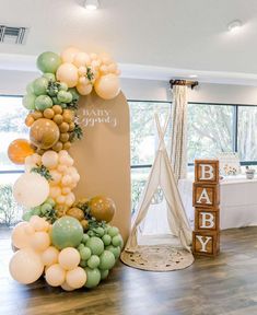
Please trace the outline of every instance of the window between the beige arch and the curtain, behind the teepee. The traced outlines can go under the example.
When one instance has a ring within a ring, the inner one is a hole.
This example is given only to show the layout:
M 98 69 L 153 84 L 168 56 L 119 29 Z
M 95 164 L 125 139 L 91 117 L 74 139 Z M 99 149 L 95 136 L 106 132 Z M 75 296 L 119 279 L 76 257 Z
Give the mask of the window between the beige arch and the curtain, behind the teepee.
M 157 132 L 154 114 L 157 113 L 161 124 L 171 114 L 171 103 L 129 101 L 130 107 L 130 143 L 131 143 L 131 185 L 132 211 L 135 211 L 157 149 Z M 171 130 L 171 125 L 168 126 Z M 171 132 L 167 132 L 167 135 Z M 168 137 L 165 139 L 168 145 Z

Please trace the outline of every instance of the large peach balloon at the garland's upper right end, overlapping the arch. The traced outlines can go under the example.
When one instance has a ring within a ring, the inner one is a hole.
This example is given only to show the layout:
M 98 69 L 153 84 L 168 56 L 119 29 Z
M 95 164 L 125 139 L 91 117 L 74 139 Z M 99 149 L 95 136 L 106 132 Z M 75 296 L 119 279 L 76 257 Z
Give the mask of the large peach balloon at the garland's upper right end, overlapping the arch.
M 104 100 L 112 100 L 119 94 L 119 79 L 113 73 L 102 75 L 95 81 L 94 89 L 100 97 Z

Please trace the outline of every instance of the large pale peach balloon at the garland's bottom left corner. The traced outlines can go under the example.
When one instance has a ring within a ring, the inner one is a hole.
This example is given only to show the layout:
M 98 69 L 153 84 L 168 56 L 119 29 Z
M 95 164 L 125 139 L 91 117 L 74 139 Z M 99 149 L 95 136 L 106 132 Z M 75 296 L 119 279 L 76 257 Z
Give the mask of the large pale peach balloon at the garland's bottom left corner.
M 32 248 L 22 248 L 11 258 L 9 270 L 14 280 L 23 284 L 35 282 L 44 271 L 39 254 Z

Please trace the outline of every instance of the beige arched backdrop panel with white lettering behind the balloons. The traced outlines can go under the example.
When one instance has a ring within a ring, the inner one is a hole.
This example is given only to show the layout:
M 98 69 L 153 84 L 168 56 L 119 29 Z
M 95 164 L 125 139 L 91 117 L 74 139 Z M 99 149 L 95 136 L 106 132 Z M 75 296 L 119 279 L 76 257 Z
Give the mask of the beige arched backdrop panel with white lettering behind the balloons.
M 112 224 L 126 242 L 130 231 L 130 126 L 125 95 L 105 101 L 95 93 L 81 96 L 78 110 L 83 138 L 70 153 L 81 176 L 77 199 L 104 195 L 117 207 Z

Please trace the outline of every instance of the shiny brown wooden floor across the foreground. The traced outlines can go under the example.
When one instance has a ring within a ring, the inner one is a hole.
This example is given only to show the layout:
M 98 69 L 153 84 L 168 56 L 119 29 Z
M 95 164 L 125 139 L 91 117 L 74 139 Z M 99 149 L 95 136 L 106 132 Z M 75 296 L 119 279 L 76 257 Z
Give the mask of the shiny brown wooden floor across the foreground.
M 217 259 L 200 258 L 172 272 L 140 271 L 120 262 L 95 290 L 70 293 L 44 280 L 30 287 L 13 281 L 10 241 L 7 233 L 0 237 L 1 315 L 257 314 L 257 228 L 222 232 Z

